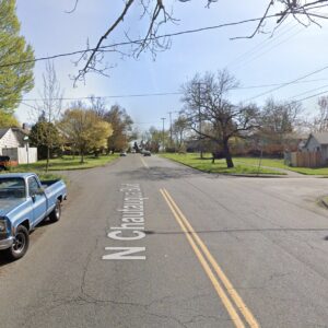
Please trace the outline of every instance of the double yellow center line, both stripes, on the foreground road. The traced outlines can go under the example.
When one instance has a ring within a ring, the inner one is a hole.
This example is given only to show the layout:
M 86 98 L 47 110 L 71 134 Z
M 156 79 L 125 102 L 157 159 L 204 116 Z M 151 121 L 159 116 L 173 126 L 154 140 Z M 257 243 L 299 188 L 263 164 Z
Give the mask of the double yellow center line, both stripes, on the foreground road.
M 219 297 L 221 298 L 235 326 L 237 328 L 244 328 L 246 327 L 245 324 L 247 324 L 247 326 L 249 327 L 258 328 L 259 324 L 257 323 L 256 318 L 247 308 L 246 304 L 238 295 L 233 284 L 224 274 L 224 272 L 209 251 L 208 247 L 195 232 L 171 195 L 164 188 L 160 189 L 160 191 L 167 202 L 177 223 L 180 225 L 183 232 L 185 233 L 198 260 L 200 261 L 203 270 L 211 280 Z M 244 317 L 243 319 L 241 318 L 241 315 Z

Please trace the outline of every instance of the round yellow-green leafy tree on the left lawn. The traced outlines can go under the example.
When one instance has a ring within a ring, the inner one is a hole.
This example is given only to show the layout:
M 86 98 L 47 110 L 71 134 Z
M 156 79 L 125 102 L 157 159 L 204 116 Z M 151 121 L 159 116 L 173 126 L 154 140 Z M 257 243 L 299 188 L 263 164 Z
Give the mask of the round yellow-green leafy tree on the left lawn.
M 75 104 L 67 109 L 59 124 L 60 130 L 67 141 L 78 149 L 81 163 L 87 151 L 106 144 L 113 133 L 110 124 L 102 120 L 92 109 Z

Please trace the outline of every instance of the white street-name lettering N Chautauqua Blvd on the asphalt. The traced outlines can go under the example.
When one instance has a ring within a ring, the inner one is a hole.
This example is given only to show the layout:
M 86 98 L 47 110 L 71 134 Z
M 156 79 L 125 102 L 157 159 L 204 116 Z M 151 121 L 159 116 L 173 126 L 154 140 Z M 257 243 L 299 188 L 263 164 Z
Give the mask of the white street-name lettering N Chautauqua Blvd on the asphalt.
M 120 191 L 124 192 L 124 206 L 118 211 L 122 213 L 121 224 L 112 226 L 107 237 L 114 241 L 139 241 L 145 237 L 143 197 L 139 184 L 124 184 Z M 105 247 L 112 251 L 104 255 L 104 260 L 145 259 L 145 247 Z M 138 254 L 138 255 L 136 255 Z

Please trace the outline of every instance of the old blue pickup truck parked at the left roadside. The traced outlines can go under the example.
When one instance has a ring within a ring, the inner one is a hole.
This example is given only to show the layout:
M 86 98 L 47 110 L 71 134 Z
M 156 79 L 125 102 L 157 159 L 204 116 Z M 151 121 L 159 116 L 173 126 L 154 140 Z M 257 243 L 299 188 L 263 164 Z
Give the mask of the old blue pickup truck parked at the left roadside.
M 62 180 L 40 181 L 34 173 L 0 175 L 0 250 L 16 260 L 25 255 L 30 232 L 44 219 L 57 222 L 67 198 Z

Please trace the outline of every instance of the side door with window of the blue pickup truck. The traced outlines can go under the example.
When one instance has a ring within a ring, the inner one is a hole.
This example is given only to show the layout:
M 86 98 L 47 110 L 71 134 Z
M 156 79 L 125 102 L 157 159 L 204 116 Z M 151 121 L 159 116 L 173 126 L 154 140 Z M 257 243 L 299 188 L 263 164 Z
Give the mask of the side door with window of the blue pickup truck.
M 28 178 L 27 184 L 30 197 L 33 201 L 33 225 L 36 225 L 47 212 L 47 198 L 44 192 L 40 192 L 40 186 L 34 176 Z

